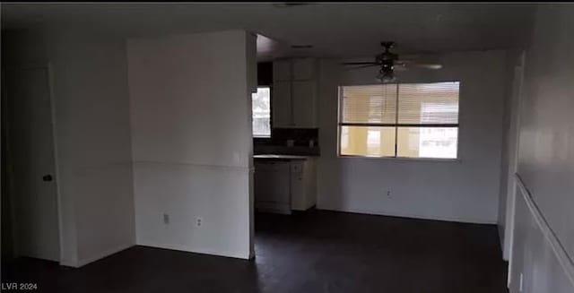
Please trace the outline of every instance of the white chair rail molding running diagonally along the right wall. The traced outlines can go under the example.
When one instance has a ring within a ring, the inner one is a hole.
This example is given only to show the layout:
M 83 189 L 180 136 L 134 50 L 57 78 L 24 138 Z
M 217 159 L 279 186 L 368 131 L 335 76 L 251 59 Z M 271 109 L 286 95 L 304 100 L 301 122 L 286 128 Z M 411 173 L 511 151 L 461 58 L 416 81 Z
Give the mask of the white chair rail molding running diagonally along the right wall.
M 556 255 L 556 258 L 558 259 L 558 263 L 561 264 L 561 267 L 568 276 L 570 283 L 574 286 L 574 261 L 570 258 L 570 255 L 566 252 L 564 246 L 562 246 L 560 239 L 556 237 L 556 234 L 548 224 L 548 221 L 544 218 L 544 214 L 538 208 L 538 205 L 532 198 L 532 194 L 530 194 L 528 188 L 526 188 L 522 178 L 518 175 L 516 175 L 516 178 L 518 190 L 520 191 L 519 194 L 522 194 L 522 199 L 526 203 L 530 214 L 534 218 L 538 228 L 542 231 L 546 241 L 551 246 L 554 255 Z

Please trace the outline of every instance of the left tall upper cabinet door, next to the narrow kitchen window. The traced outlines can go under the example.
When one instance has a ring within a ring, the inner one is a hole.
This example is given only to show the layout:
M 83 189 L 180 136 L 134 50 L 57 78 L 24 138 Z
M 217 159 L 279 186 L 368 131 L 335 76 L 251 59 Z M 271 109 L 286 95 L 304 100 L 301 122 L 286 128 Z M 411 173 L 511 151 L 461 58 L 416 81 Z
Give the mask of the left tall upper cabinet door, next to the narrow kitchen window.
M 271 116 L 271 121 L 275 128 L 291 127 L 293 124 L 291 115 L 291 82 L 273 83 L 271 108 L 273 108 L 273 116 Z

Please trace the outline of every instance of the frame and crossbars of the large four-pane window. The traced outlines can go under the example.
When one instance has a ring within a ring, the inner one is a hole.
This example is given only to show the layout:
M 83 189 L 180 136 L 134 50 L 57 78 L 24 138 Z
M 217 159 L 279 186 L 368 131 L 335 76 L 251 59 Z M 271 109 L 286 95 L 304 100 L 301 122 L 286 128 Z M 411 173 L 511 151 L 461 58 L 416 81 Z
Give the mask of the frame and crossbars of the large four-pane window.
M 418 84 L 418 83 L 440 83 L 440 82 L 458 82 L 458 123 L 457 124 L 431 124 L 431 125 L 416 125 L 416 124 L 399 124 L 398 123 L 398 87 L 400 84 Z M 392 160 L 408 160 L 408 161 L 442 161 L 442 162 L 461 162 L 462 159 L 460 157 L 460 116 L 461 116 L 461 99 L 460 99 L 460 92 L 462 87 L 462 82 L 460 81 L 439 81 L 439 82 L 392 82 L 386 84 L 396 84 L 397 87 L 397 95 L 396 95 L 396 119 L 394 124 L 388 123 L 344 123 L 343 121 L 343 111 L 342 111 L 342 102 L 343 102 L 343 88 L 346 86 L 370 86 L 376 84 L 347 84 L 347 85 L 339 85 L 337 87 L 337 158 L 353 158 L 353 159 L 392 159 Z M 369 155 L 345 155 L 341 153 L 341 133 L 343 126 L 374 126 L 374 127 L 394 127 L 395 128 L 395 156 L 369 156 Z M 431 158 L 431 157 L 401 157 L 398 156 L 397 150 L 397 140 L 398 140 L 398 128 L 399 127 L 425 127 L 425 128 L 449 128 L 449 127 L 456 127 L 457 130 L 457 158 Z

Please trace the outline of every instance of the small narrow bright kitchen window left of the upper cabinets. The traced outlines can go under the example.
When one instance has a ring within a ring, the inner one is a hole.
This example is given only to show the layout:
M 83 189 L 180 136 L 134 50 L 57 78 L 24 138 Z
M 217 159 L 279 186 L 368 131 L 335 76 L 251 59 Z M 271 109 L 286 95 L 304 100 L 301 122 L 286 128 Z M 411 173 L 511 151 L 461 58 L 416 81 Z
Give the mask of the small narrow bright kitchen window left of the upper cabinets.
M 271 137 L 271 89 L 258 87 L 252 96 L 253 136 Z

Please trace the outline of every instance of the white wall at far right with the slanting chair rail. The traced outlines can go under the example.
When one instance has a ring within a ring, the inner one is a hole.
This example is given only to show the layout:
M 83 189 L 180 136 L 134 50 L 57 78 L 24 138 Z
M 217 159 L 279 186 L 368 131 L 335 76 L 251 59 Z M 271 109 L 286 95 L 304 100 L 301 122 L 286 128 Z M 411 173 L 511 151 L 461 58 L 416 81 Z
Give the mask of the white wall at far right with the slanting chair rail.
M 517 172 L 535 209 L 517 194 L 510 292 L 518 292 L 520 273 L 523 292 L 574 291 L 572 35 L 572 6 L 538 8 L 526 51 Z

